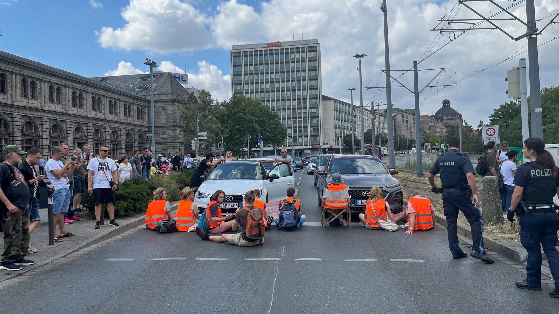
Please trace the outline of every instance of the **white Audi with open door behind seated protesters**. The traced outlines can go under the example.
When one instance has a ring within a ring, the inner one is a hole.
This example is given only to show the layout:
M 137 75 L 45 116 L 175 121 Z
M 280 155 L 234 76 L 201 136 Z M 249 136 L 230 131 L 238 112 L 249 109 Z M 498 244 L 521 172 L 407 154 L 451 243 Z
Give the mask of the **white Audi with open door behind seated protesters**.
M 224 213 L 234 213 L 243 207 L 244 194 L 251 189 L 260 190 L 263 202 L 285 199 L 287 189 L 295 185 L 291 167 L 285 163 L 260 164 L 258 160 L 268 158 L 227 161 L 215 166 L 196 192 L 195 203 L 200 213 L 217 190 L 225 192 L 225 201 L 220 204 Z

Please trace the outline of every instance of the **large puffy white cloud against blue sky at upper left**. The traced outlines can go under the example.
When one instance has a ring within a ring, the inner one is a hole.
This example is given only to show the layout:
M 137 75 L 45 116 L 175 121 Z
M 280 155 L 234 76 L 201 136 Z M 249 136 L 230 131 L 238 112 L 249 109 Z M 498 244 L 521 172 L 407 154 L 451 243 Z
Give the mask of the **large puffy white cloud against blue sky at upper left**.
M 211 47 L 206 17 L 179 0 L 130 0 L 121 12 L 126 25 L 96 32 L 102 47 L 159 53 Z

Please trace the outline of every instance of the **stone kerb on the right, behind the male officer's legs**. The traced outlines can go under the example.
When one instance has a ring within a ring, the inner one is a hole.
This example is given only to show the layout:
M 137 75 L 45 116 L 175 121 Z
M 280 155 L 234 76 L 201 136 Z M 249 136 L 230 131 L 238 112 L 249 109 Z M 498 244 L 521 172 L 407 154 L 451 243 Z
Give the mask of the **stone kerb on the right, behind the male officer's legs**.
M 438 212 L 435 212 L 435 214 L 437 214 L 437 222 L 447 227 L 448 224 L 447 224 L 446 217 L 444 217 L 444 215 Z M 470 230 L 469 226 L 461 222 L 458 222 L 456 230 L 458 232 L 458 235 L 465 236 L 470 240 L 472 239 L 472 231 Z M 487 234 L 483 235 L 483 239 L 484 239 L 484 246 L 487 249 L 505 255 L 506 257 L 520 264 L 526 263 L 526 260 L 528 259 L 528 253 L 522 247 L 522 245 L 506 242 L 501 239 L 498 239 L 497 237 L 487 235 Z

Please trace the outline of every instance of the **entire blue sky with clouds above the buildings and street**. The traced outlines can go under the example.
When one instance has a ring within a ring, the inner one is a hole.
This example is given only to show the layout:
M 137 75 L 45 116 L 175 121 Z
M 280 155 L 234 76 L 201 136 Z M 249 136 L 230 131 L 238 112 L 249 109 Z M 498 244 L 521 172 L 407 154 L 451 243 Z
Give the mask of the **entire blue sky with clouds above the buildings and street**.
M 190 87 L 206 88 L 224 100 L 231 94 L 231 45 L 297 39 L 318 39 L 321 45 L 323 94 L 349 101 L 347 88 L 359 87 L 358 61 L 363 63 L 363 86 L 383 87 L 385 69 L 381 0 L 0 0 L 0 50 L 84 75 L 123 75 L 149 72 L 145 58 L 158 61 L 160 70 L 186 72 Z M 508 101 L 506 70 L 528 58 L 527 41 L 511 41 L 499 30 L 470 30 L 440 34 L 433 28 L 469 25 L 439 23 L 440 18 L 476 18 L 456 0 L 388 0 L 389 46 L 392 74 L 413 89 L 413 61 L 419 69 L 421 114 L 432 115 L 446 97 L 466 121 L 489 122 L 500 103 Z M 497 1 L 508 7 L 513 2 Z M 525 3 L 511 12 L 525 20 Z M 468 2 L 482 15 L 500 10 L 489 2 Z M 451 12 L 450 14 L 448 14 Z M 542 28 L 559 0 L 536 0 Z M 496 18 L 506 18 L 505 13 Z M 559 22 L 559 18 L 557 19 Z M 496 21 L 513 36 L 524 34 L 518 21 Z M 478 27 L 491 27 L 487 23 Z M 541 86 L 559 84 L 559 24 L 538 36 Z M 452 40 L 451 40 L 452 39 Z M 552 41 L 549 41 L 552 40 Z M 548 42 L 549 41 L 549 42 Z M 440 48 L 440 49 L 439 49 Z M 520 55 L 518 55 L 520 54 Z M 518 55 L 518 56 L 515 56 Z M 514 56 L 514 57 L 513 57 Z M 513 57 L 513 58 L 511 58 Z M 510 59 L 509 59 L 510 58 Z M 504 61 L 505 59 L 509 59 Z M 500 64 L 498 64 L 500 63 Z M 478 71 L 483 70 L 480 73 Z M 468 76 L 475 74 L 469 78 Z M 459 81 L 459 82 L 458 82 Z M 396 82 L 394 85 L 399 85 Z M 358 91 L 356 91 L 358 92 Z M 354 95 L 354 101 L 359 94 Z M 363 102 L 386 102 L 385 91 L 363 91 Z M 396 107 L 413 108 L 405 88 L 392 88 Z

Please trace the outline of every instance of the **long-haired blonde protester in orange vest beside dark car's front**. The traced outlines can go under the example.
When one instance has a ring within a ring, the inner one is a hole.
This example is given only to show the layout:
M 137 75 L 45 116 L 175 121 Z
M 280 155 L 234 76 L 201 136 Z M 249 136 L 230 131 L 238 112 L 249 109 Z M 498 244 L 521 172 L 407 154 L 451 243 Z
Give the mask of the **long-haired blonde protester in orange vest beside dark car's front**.
M 368 229 L 383 230 L 378 221 L 387 221 L 389 219 L 392 222 L 398 221 L 396 220 L 396 217 L 392 215 L 392 211 L 390 211 L 390 205 L 382 196 L 381 189 L 379 187 L 372 187 L 371 192 L 369 193 L 367 206 L 365 207 L 365 213 L 359 214 L 359 220 L 361 220 L 361 222 L 359 222 L 359 225 L 367 227 Z

